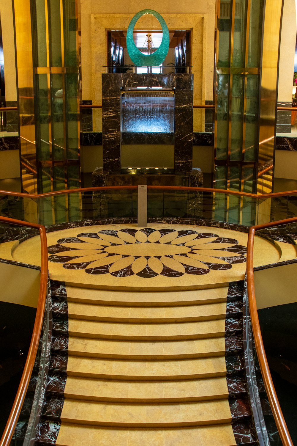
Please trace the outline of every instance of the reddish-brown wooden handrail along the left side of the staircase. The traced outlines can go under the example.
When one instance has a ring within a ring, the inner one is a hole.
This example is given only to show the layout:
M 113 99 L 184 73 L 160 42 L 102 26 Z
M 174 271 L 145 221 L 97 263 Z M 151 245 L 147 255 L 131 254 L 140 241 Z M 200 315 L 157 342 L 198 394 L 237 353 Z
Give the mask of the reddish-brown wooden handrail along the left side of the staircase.
M 41 238 L 41 276 L 40 276 L 39 296 L 38 296 L 36 317 L 33 327 L 33 334 L 28 351 L 28 356 L 24 366 L 24 371 L 20 380 L 20 385 L 16 392 L 16 397 L 13 402 L 8 421 L 4 429 L 4 433 L 0 440 L 0 446 L 8 446 L 12 440 L 12 435 L 16 428 L 16 423 L 19 418 L 22 405 L 24 403 L 27 388 L 33 371 L 35 358 L 37 355 L 37 349 L 41 336 L 41 328 L 45 311 L 47 286 L 48 286 L 48 259 L 47 259 L 46 233 L 44 226 L 35 223 L 23 222 L 21 220 L 9 219 L 7 217 L 0 217 L 0 222 L 11 223 L 15 225 L 38 229 Z

